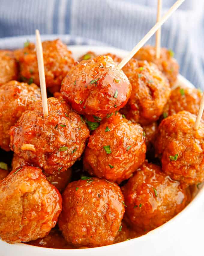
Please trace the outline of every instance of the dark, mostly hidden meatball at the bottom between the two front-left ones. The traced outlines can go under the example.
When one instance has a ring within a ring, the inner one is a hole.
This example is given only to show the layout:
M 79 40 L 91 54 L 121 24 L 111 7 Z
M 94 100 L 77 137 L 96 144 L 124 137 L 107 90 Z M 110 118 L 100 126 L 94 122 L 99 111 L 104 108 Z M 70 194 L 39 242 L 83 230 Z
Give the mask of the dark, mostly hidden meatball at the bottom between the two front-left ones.
M 56 228 L 52 229 L 47 236 L 30 241 L 28 244 L 46 248 L 73 249 L 73 246 L 68 245 L 67 241 Z

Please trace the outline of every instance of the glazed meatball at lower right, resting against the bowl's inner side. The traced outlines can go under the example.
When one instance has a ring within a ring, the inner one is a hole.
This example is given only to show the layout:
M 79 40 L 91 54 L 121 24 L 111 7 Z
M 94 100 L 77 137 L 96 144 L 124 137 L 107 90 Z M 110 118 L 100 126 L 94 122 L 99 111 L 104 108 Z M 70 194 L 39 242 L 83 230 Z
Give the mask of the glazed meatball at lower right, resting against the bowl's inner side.
M 127 205 L 125 220 L 137 232 L 161 226 L 182 211 L 189 198 L 178 181 L 147 162 L 122 187 L 122 192 Z

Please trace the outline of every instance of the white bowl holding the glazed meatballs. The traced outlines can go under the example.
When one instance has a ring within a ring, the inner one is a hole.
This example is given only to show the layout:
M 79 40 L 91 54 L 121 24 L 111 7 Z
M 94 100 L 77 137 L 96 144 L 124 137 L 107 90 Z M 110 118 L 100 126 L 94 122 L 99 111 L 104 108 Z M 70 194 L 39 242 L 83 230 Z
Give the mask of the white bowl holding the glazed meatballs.
M 25 39 L 23 39 L 25 40 Z M 21 47 L 17 45 L 17 47 Z M 88 51 L 97 54 L 114 53 L 125 57 L 128 52 L 111 47 L 70 46 L 73 56 L 78 58 Z M 178 84 L 193 87 L 179 75 Z M 204 229 L 204 188 L 199 189 L 195 198 L 173 219 L 150 231 L 144 236 L 121 242 L 87 249 L 51 249 L 26 244 L 8 244 L 0 240 L 0 256 L 173 256 L 204 255 L 202 252 Z M 9 228 L 9 227 L 8 227 Z

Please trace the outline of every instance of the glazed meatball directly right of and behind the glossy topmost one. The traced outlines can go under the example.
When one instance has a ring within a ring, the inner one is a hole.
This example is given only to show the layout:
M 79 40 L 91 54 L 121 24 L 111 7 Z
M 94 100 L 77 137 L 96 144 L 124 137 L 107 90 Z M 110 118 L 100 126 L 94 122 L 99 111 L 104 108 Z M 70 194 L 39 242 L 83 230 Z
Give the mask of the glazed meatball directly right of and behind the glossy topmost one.
M 155 64 L 135 59 L 131 59 L 123 71 L 132 84 L 132 92 L 122 113 L 141 125 L 158 120 L 170 96 L 166 77 Z

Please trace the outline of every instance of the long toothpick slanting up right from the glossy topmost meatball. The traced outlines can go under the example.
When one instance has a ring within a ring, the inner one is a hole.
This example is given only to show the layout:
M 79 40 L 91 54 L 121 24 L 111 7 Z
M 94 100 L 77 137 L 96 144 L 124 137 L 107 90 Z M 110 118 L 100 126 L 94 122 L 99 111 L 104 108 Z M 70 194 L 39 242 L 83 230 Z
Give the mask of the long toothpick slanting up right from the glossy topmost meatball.
M 169 11 L 161 18 L 160 21 L 158 21 L 154 27 L 152 27 L 151 30 L 146 34 L 146 36 L 143 37 L 143 39 L 132 49 L 132 51 L 129 53 L 127 57 L 125 57 L 119 64 L 119 69 L 122 69 L 125 64 L 140 50 L 140 48 L 150 39 L 152 35 L 164 24 L 164 22 L 176 11 L 176 9 L 179 8 L 179 6 L 184 2 L 185 0 L 178 0 L 170 9 Z

